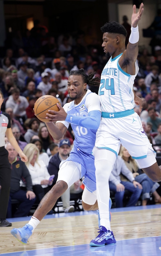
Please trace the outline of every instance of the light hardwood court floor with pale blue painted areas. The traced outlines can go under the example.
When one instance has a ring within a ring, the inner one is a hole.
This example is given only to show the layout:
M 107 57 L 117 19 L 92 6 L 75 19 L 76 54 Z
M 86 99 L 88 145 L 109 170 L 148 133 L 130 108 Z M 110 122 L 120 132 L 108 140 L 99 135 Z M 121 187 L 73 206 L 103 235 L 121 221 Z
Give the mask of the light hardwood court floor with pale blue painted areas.
M 1 256 L 158 256 L 161 255 L 161 205 L 111 209 L 111 228 L 116 244 L 90 247 L 97 236 L 96 211 L 47 215 L 34 230 L 27 245 L 10 231 L 31 217 L 8 219 L 12 227 L 0 228 Z

